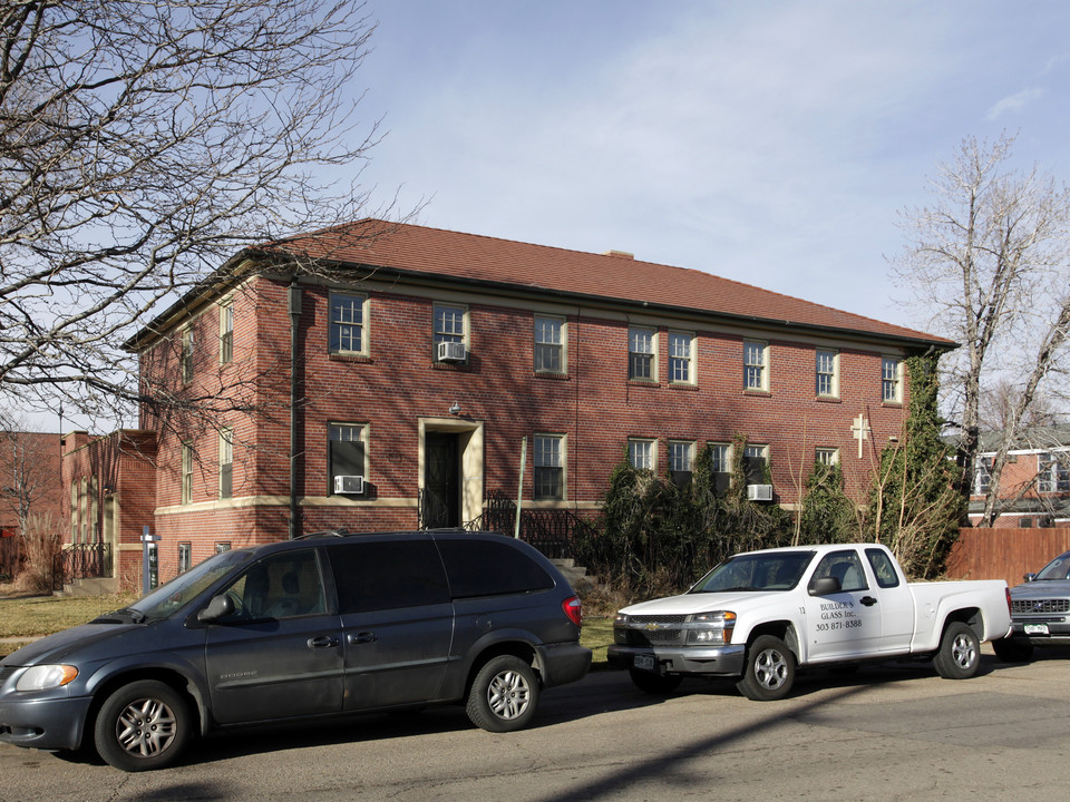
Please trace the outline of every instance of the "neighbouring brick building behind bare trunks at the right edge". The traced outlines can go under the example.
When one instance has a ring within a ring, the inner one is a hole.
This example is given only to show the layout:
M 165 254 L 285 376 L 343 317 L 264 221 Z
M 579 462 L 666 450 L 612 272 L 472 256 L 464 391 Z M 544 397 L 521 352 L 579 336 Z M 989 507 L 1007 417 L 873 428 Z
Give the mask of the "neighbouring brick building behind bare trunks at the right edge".
M 974 468 L 971 522 L 984 511 L 995 436 L 981 437 Z M 1000 476 L 999 498 L 1006 509 L 995 519 L 999 528 L 1070 526 L 1070 427 L 1037 427 L 1023 433 L 1008 452 Z

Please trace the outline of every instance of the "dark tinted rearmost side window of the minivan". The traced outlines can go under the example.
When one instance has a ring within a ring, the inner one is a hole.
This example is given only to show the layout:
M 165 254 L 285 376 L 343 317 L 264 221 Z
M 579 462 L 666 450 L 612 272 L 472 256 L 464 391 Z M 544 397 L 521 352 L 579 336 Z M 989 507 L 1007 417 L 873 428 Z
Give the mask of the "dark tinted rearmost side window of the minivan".
M 508 542 L 439 540 L 454 598 L 547 590 L 554 580 L 538 563 Z

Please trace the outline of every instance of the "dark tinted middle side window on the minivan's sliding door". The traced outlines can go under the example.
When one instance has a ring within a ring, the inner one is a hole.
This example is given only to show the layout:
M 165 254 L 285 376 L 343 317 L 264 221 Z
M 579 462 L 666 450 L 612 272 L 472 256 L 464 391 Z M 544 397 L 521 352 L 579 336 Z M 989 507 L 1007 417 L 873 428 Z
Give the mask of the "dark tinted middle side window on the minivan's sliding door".
M 327 552 L 341 615 L 449 603 L 442 560 L 429 539 L 346 542 Z

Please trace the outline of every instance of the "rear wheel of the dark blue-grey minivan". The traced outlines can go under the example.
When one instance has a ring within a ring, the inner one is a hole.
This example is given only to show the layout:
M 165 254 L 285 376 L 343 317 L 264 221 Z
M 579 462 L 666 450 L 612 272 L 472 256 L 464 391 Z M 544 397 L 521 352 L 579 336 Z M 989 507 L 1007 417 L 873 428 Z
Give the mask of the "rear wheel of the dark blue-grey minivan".
M 487 661 L 468 692 L 471 723 L 488 732 L 513 732 L 527 726 L 538 704 L 538 677 L 519 657 L 499 655 Z

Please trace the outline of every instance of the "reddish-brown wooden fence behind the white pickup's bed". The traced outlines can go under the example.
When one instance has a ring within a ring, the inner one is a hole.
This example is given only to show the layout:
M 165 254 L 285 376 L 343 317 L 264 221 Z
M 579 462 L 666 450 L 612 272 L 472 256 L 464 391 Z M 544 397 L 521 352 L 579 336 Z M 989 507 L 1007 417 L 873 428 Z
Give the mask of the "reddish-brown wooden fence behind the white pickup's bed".
M 1063 551 L 1070 551 L 1070 528 L 960 529 L 947 578 L 1004 579 L 1013 587 Z

